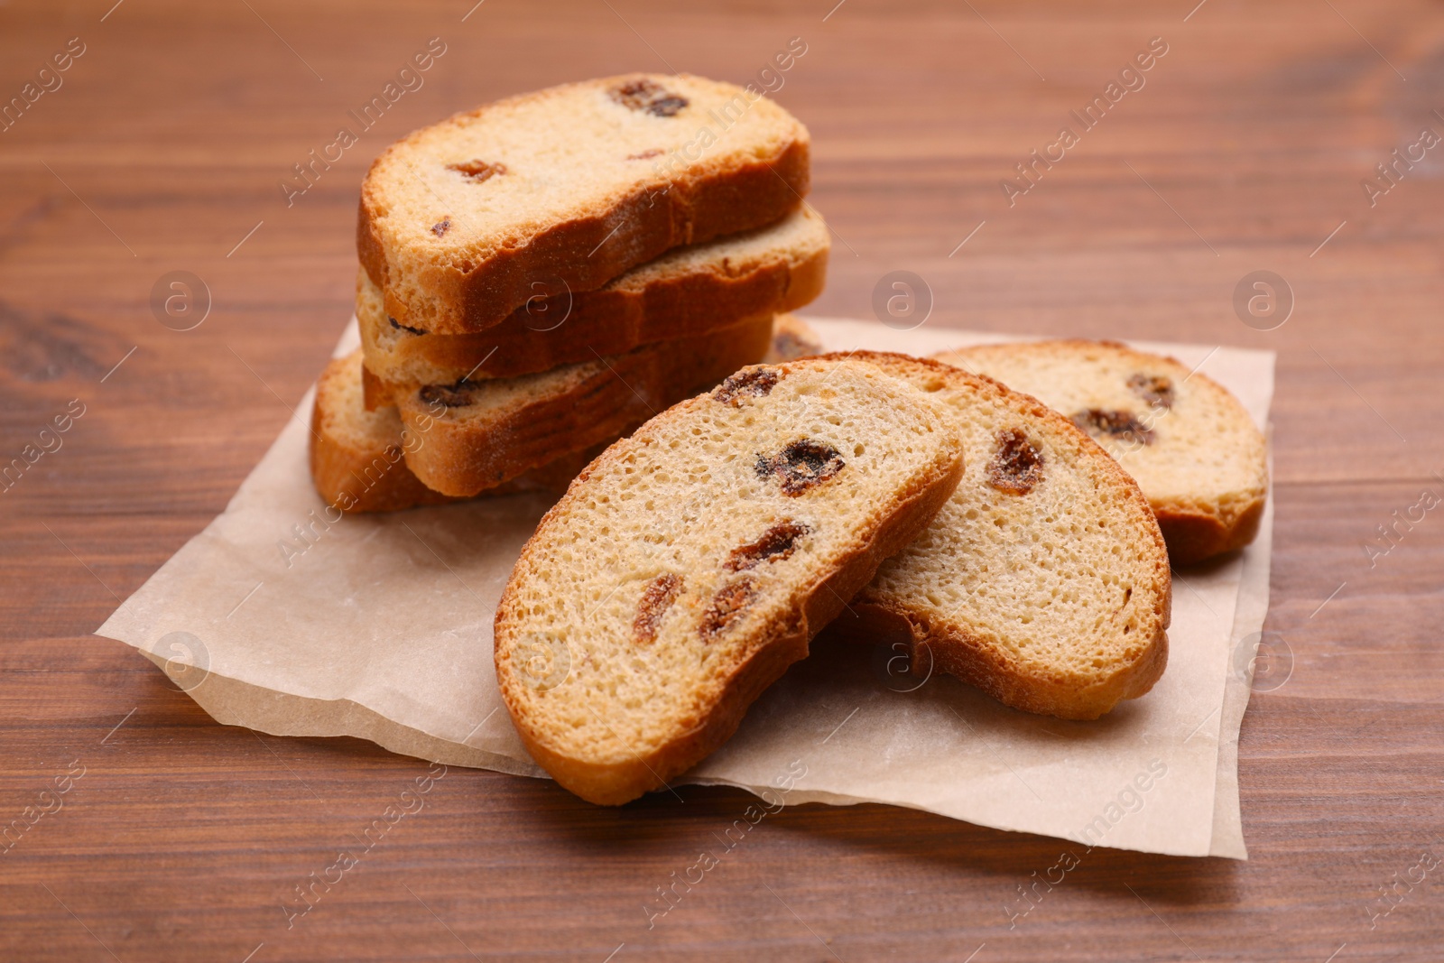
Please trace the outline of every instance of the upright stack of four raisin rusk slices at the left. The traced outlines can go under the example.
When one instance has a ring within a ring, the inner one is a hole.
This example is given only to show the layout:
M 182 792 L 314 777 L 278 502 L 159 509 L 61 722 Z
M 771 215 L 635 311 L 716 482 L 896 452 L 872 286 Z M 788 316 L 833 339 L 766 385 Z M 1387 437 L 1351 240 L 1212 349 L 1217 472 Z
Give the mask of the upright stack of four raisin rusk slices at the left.
M 361 186 L 361 349 L 322 375 L 328 502 L 387 511 L 566 484 L 767 357 L 822 290 L 807 128 L 696 77 L 570 84 L 393 144 Z

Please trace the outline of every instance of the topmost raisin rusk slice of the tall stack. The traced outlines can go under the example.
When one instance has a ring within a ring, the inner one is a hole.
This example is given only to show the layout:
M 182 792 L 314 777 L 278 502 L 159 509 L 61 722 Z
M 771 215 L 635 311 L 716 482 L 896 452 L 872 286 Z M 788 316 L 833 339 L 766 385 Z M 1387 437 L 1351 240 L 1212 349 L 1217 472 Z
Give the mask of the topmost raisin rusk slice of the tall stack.
M 361 185 L 357 251 L 399 323 L 501 323 L 553 282 L 596 290 L 683 244 L 781 219 L 809 136 L 761 95 L 632 74 L 497 101 L 390 146 Z

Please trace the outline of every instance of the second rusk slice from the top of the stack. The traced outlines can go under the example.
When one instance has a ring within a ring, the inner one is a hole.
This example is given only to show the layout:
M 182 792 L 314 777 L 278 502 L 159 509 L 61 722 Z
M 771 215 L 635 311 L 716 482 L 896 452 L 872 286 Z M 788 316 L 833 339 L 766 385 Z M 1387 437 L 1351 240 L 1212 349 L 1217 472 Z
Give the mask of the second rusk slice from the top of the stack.
M 511 378 L 700 335 L 793 310 L 822 293 L 827 227 L 807 209 L 778 224 L 667 251 L 595 292 L 537 296 L 484 332 L 416 334 L 387 318 L 381 289 L 357 276 L 367 404 L 423 384 Z

